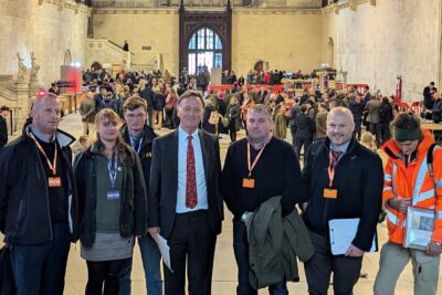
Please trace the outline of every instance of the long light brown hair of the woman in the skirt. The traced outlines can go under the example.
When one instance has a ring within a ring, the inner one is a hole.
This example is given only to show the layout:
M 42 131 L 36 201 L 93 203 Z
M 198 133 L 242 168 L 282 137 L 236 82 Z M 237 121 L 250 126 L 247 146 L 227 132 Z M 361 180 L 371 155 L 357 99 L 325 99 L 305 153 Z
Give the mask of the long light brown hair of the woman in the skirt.
M 104 108 L 98 112 L 95 117 L 95 126 L 96 126 L 96 138 L 94 144 L 98 146 L 98 150 L 102 155 L 105 155 L 105 145 L 103 144 L 102 139 L 99 138 L 98 134 L 98 125 L 103 123 L 105 119 L 108 119 L 109 123 L 118 123 L 122 124 L 122 119 L 119 118 L 118 114 L 115 113 L 110 108 Z M 123 141 L 122 135 L 118 133 L 117 138 L 115 139 L 115 151 L 117 152 L 118 159 L 123 162 L 127 162 L 129 166 L 135 164 L 134 152 L 130 150 L 130 147 Z

